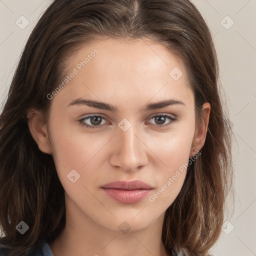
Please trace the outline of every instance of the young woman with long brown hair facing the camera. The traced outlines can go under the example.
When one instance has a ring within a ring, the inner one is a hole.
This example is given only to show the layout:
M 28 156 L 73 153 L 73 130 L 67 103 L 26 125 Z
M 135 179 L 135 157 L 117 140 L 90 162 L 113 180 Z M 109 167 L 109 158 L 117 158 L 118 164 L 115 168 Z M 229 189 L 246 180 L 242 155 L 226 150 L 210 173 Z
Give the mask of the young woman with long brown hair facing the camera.
M 53 1 L 0 115 L 3 255 L 209 255 L 231 131 L 188 0 Z

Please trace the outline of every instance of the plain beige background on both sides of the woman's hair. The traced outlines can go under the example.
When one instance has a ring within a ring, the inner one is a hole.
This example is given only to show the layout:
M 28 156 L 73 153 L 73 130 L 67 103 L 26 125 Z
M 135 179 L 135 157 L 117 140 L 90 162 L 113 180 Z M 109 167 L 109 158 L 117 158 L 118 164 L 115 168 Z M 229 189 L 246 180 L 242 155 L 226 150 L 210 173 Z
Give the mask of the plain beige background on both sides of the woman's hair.
M 50 2 L 0 0 L 1 106 L 24 43 Z M 211 252 L 215 256 L 253 256 L 256 255 L 256 0 L 193 2 L 214 36 L 221 82 L 237 141 L 233 145 L 234 213 L 226 217 L 229 222 L 223 226 L 221 237 Z M 22 15 L 29 21 L 24 29 L 15 24 Z

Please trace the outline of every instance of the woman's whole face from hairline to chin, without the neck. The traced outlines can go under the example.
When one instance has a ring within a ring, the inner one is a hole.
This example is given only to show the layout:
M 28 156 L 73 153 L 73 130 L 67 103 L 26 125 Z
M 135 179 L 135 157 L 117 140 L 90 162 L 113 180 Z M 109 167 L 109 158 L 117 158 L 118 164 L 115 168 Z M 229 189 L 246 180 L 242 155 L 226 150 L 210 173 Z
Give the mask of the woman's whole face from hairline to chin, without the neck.
M 109 38 L 84 44 L 67 65 L 65 85 L 48 95 L 49 143 L 40 147 L 54 156 L 66 206 L 112 231 L 162 219 L 195 137 L 182 62 L 156 42 Z

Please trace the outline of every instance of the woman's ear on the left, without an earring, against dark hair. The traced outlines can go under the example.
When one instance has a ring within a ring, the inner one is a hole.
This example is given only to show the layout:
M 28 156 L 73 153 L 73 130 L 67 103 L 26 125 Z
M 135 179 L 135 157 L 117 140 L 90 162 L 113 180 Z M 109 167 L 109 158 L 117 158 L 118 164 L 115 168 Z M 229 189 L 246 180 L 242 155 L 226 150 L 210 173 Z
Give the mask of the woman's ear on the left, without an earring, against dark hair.
M 27 122 L 30 133 L 37 143 L 39 149 L 47 154 L 51 154 L 51 146 L 48 137 L 48 130 L 46 123 L 42 122 L 42 112 L 36 109 L 27 110 Z

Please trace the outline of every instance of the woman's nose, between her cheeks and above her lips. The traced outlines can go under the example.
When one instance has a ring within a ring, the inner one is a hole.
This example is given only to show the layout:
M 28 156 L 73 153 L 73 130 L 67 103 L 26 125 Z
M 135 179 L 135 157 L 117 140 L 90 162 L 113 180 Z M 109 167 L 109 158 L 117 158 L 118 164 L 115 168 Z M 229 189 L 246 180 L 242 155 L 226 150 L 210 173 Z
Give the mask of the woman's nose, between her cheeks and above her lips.
M 125 172 L 139 170 L 147 163 L 145 144 L 141 135 L 134 133 L 133 125 L 126 131 L 118 128 L 111 144 L 110 164 Z

